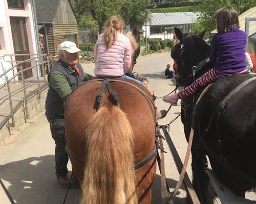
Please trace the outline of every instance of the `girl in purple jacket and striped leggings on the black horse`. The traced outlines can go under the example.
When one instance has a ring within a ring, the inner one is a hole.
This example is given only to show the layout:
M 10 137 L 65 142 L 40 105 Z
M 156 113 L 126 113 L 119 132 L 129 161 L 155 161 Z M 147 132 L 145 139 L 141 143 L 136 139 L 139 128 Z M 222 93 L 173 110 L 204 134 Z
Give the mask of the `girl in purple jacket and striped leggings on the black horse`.
M 237 12 L 231 6 L 225 6 L 216 12 L 215 21 L 218 33 L 212 37 L 209 58 L 214 63 L 214 68 L 183 90 L 165 96 L 163 101 L 166 103 L 177 106 L 178 99 L 193 95 L 202 87 L 227 75 L 246 71 L 245 45 L 247 37 L 243 31 L 239 30 Z

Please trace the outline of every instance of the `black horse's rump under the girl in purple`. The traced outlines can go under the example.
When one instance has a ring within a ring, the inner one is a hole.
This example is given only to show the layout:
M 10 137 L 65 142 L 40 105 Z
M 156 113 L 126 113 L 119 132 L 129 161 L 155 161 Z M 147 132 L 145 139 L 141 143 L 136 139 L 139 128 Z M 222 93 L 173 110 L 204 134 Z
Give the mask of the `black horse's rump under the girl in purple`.
M 217 109 L 218 104 L 231 90 L 250 78 L 251 75 L 249 74 L 236 74 L 222 78 L 212 84 L 200 101 L 198 109 L 200 130 L 198 127 L 197 130 L 200 131 L 201 136 L 208 127 L 210 117 Z M 253 104 L 256 103 L 255 88 L 256 81 L 253 81 L 234 94 L 225 104 L 220 117 L 216 119 L 215 116 L 215 119 L 212 120 L 205 138 L 208 147 L 219 156 L 220 160 L 224 157 L 232 166 L 247 172 L 252 177 L 256 171 L 256 164 L 251 163 L 254 159 L 256 145 L 256 109 L 253 108 Z M 217 125 L 219 125 L 222 143 L 220 148 L 216 148 L 219 139 Z M 220 162 L 211 160 L 211 166 L 218 174 L 219 179 L 226 183 L 229 188 L 233 189 L 238 182 L 243 183 L 243 176 L 239 178 L 236 173 L 226 171 Z M 229 182 L 227 183 L 225 180 Z M 245 190 L 253 187 L 251 184 L 245 186 Z

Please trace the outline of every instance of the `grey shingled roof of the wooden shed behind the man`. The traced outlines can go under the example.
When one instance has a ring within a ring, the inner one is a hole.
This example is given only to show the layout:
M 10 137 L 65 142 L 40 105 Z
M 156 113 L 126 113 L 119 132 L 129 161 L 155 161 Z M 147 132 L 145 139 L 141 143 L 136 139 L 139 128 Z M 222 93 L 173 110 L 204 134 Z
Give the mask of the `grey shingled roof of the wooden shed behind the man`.
M 53 22 L 60 0 L 35 0 L 37 23 Z

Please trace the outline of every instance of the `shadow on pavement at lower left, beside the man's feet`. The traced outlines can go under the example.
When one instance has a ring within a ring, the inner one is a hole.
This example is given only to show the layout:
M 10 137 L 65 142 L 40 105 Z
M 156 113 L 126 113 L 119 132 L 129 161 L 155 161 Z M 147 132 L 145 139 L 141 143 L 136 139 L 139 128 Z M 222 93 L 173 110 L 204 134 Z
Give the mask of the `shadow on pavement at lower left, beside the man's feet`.
M 62 203 L 65 197 L 66 189 L 59 187 L 56 182 L 54 155 L 0 165 L 0 172 L 16 204 L 55 204 Z M 78 204 L 79 200 L 80 190 L 70 189 L 65 203 Z

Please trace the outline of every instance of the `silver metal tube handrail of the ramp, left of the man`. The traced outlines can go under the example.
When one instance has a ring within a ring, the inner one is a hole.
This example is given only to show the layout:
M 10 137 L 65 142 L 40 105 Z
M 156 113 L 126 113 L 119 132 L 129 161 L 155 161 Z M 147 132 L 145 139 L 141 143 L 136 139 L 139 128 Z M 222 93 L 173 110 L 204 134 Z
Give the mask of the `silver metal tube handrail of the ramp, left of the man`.
M 5 57 L 7 56 L 10 56 L 11 57 L 11 60 L 5 60 Z M 12 60 L 12 56 L 36 56 L 36 57 L 33 57 L 33 58 L 29 58 L 27 60 L 24 60 L 24 61 L 16 61 L 16 60 Z M 10 81 L 13 80 L 14 78 L 16 78 L 19 74 L 21 74 L 21 77 L 22 77 L 22 84 L 23 84 L 23 92 L 24 92 L 24 99 L 23 100 L 23 103 L 25 102 L 25 107 L 24 107 L 24 110 L 26 111 L 26 114 L 25 114 L 25 121 L 26 119 L 29 118 L 29 111 L 28 111 L 28 95 L 26 93 L 26 85 L 25 85 L 25 78 L 24 78 L 24 71 L 26 70 L 29 70 L 29 69 L 32 69 L 34 67 L 36 67 L 36 81 L 37 81 L 37 94 L 38 94 L 38 99 L 40 100 L 41 99 L 41 93 L 40 93 L 40 81 L 39 81 L 39 72 L 38 72 L 38 66 L 42 65 L 42 64 L 48 64 L 48 68 L 50 67 L 50 60 L 49 60 L 49 56 L 47 54 L 7 54 L 7 55 L 4 55 L 4 56 L 1 56 L 3 58 L 3 60 L 5 62 L 18 62 L 16 63 L 15 65 L 12 64 L 12 67 L 9 68 L 8 70 L 4 71 L 2 74 L 0 74 L 0 78 L 2 78 L 3 76 L 5 77 L 5 80 L 6 82 L 4 82 L 2 85 L 0 85 L 0 89 L 5 87 L 5 85 L 7 85 L 7 88 L 8 88 L 8 97 L 9 97 L 9 104 L 10 104 L 10 114 L 7 116 L 8 118 L 11 117 L 12 119 L 12 127 L 15 127 L 15 118 L 14 118 L 14 109 L 13 109 L 13 105 L 12 105 L 12 99 L 11 99 L 11 90 L 10 90 Z M 41 60 L 36 60 L 36 59 L 40 59 L 41 57 L 47 57 L 47 60 L 46 61 L 41 61 Z M 25 62 L 35 62 L 35 65 L 33 66 L 30 66 L 30 67 L 27 67 L 25 69 L 23 69 L 23 66 L 21 64 L 24 64 Z M 18 71 L 17 73 L 13 74 L 13 76 L 9 79 L 7 77 L 7 73 L 11 70 L 13 70 L 15 67 L 17 67 L 18 65 L 21 65 L 20 66 L 20 71 Z M 45 79 L 45 73 L 43 72 L 43 77 L 44 77 L 44 82 L 47 82 L 46 79 Z M 22 103 L 22 104 L 23 104 Z M 7 120 L 7 122 L 9 123 L 9 121 Z M 8 125 L 9 126 L 9 125 Z M 10 127 L 10 126 L 9 126 Z M 9 129 L 10 130 L 10 129 Z

